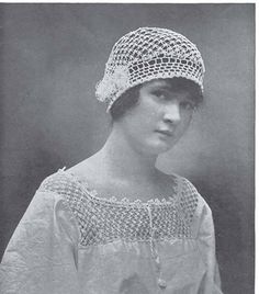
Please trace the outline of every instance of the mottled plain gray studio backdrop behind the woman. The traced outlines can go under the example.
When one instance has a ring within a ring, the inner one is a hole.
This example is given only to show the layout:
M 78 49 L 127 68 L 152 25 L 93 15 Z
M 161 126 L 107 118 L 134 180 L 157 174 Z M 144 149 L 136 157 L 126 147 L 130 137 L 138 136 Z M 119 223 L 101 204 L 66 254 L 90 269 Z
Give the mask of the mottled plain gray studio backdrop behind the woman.
M 158 167 L 189 178 L 215 222 L 223 290 L 254 293 L 255 4 L 1 4 L 3 252 L 48 174 L 89 157 L 110 121 L 94 99 L 114 42 L 138 26 L 189 37 L 205 103 Z

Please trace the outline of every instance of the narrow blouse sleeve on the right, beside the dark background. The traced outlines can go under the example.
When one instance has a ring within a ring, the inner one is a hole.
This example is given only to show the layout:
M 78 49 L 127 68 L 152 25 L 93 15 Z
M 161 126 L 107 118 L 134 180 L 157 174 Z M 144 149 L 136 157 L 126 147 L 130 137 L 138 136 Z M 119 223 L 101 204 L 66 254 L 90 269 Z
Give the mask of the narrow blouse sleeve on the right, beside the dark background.
M 202 282 L 201 292 L 199 293 L 223 294 L 221 290 L 221 278 L 215 255 L 215 233 L 212 212 L 202 197 L 201 203 L 198 242 L 206 267 L 206 276 Z

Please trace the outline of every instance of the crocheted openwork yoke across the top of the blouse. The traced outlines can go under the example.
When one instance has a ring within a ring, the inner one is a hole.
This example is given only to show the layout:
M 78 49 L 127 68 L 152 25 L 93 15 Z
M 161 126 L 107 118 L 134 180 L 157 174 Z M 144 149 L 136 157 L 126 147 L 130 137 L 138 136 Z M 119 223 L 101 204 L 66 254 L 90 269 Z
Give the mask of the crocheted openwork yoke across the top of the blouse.
M 178 181 L 178 179 L 176 179 Z M 82 246 L 101 245 L 117 239 L 150 241 L 192 238 L 191 223 L 198 205 L 198 192 L 181 178 L 169 200 L 146 203 L 124 199 L 98 197 L 87 183 L 59 170 L 46 178 L 40 191 L 61 194 L 78 222 Z

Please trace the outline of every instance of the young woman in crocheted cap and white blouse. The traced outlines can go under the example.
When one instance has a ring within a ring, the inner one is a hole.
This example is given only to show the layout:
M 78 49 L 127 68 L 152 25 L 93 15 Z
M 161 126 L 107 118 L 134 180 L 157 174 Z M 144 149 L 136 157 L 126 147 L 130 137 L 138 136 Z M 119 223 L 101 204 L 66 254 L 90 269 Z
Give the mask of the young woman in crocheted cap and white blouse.
M 1 293 L 222 293 L 210 207 L 155 167 L 202 102 L 204 71 L 170 30 L 119 39 L 97 86 L 111 134 L 43 181 L 3 256 Z

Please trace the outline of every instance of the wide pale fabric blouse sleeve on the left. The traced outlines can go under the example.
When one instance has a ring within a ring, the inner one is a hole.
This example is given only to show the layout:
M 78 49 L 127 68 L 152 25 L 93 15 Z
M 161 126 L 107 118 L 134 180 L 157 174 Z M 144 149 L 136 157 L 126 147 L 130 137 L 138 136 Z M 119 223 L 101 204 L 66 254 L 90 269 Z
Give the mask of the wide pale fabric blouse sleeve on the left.
M 79 228 L 57 193 L 36 192 L 0 264 L 2 294 L 78 294 Z

